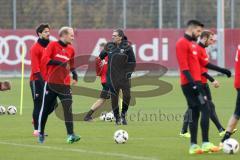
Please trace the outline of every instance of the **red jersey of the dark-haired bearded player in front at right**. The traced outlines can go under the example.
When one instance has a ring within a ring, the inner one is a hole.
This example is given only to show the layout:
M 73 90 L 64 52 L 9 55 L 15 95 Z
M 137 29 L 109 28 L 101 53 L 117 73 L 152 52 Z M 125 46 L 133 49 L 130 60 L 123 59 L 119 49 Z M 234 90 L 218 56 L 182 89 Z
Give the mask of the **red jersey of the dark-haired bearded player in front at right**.
M 184 70 L 189 70 L 194 81 L 201 81 L 201 67 L 198 60 L 197 44 L 189 39 L 185 35 L 176 43 L 176 56 L 180 69 L 181 85 L 189 83 L 182 73 Z

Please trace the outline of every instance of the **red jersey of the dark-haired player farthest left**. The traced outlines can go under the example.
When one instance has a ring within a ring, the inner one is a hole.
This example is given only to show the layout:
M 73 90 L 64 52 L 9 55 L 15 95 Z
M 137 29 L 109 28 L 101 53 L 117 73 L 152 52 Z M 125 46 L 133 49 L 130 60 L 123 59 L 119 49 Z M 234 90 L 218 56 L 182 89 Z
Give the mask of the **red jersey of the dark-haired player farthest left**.
M 38 80 L 38 77 L 35 76 L 35 73 L 40 72 L 43 79 L 45 79 L 47 68 L 45 65 L 41 65 L 41 59 L 44 54 L 45 47 L 39 44 L 39 42 L 35 42 L 33 46 L 30 48 L 30 56 L 31 56 L 31 75 L 30 81 Z

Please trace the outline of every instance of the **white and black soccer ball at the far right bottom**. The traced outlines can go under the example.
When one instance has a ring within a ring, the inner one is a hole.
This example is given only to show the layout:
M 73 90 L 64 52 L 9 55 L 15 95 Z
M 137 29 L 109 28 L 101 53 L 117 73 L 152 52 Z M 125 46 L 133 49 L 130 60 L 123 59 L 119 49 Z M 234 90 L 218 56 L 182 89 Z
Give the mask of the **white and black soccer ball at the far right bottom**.
M 239 150 L 239 143 L 233 138 L 229 138 L 223 142 L 223 152 L 227 154 L 237 153 Z

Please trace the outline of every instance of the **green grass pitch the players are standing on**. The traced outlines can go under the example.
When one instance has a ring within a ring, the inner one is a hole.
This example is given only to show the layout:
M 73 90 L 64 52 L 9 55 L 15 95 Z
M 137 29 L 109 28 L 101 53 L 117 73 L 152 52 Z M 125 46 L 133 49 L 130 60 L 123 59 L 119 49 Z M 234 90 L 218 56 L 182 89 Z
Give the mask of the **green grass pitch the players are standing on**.
M 236 91 L 233 88 L 233 79 L 217 77 L 221 83 L 219 89 L 212 88 L 213 100 L 216 104 L 218 116 L 224 126 L 235 107 Z M 3 80 L 3 78 L 1 78 Z M 12 90 L 1 92 L 0 104 L 15 105 L 18 114 L 14 116 L 0 116 L 0 160 L 223 160 L 239 159 L 236 155 L 226 155 L 222 152 L 204 155 L 189 155 L 189 139 L 178 136 L 182 126 L 182 115 L 186 110 L 186 102 L 180 90 L 178 78 L 163 77 L 162 80 L 173 85 L 173 90 L 165 95 L 152 98 L 137 98 L 137 104 L 129 109 L 128 126 L 115 126 L 113 122 L 75 122 L 75 132 L 82 136 L 78 143 L 66 144 L 66 131 L 63 121 L 53 113 L 47 122 L 46 132 L 49 136 L 44 144 L 38 144 L 32 136 L 32 98 L 28 79 L 24 83 L 23 115 L 19 115 L 20 79 L 10 79 Z M 99 88 L 99 81 L 79 85 Z M 144 90 L 151 86 L 133 88 Z M 74 112 L 88 111 L 95 102 L 95 98 L 74 96 Z M 165 114 L 168 118 L 158 117 L 151 119 L 151 114 Z M 138 114 L 140 116 L 138 116 Z M 135 116 L 134 116 L 135 115 Z M 174 118 L 172 116 L 175 116 Z M 129 133 L 126 144 L 116 144 L 113 134 L 117 129 L 124 129 Z M 200 138 L 199 129 L 199 142 Z M 233 137 L 239 140 L 238 131 Z M 221 138 L 216 127 L 211 123 L 210 140 L 218 144 Z

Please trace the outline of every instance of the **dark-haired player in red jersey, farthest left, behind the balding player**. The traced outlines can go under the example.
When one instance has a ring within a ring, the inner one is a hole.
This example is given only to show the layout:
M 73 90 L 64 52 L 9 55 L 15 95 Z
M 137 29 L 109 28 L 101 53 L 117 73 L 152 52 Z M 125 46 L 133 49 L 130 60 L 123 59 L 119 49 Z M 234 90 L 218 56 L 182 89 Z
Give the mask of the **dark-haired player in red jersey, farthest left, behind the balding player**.
M 38 118 L 42 105 L 44 78 L 46 75 L 46 67 L 44 65 L 41 65 L 41 59 L 44 54 L 44 50 L 49 43 L 50 26 L 47 23 L 42 23 L 36 28 L 36 33 L 38 35 L 38 40 L 30 48 L 31 55 L 30 87 L 34 103 L 32 113 L 34 136 L 38 136 Z

